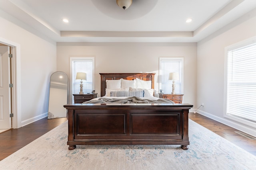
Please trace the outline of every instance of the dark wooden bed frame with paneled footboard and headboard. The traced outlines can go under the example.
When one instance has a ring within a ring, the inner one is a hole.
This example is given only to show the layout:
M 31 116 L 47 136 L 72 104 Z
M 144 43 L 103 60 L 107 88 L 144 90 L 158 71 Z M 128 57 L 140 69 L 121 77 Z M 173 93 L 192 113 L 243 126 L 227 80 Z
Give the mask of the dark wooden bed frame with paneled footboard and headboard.
M 100 73 L 100 78 L 102 98 L 108 96 L 109 91 L 111 95 L 115 92 L 112 91 L 116 88 L 115 83 L 108 84 L 115 81 L 110 80 L 117 80 L 118 87 L 120 80 L 128 82 L 126 86 L 134 80 L 136 88 L 138 82 L 142 82 L 154 89 L 154 73 Z M 112 89 L 107 90 L 107 86 Z M 188 149 L 191 104 L 87 103 L 64 107 L 68 111 L 69 150 L 75 149 L 76 145 L 180 145 L 182 149 Z

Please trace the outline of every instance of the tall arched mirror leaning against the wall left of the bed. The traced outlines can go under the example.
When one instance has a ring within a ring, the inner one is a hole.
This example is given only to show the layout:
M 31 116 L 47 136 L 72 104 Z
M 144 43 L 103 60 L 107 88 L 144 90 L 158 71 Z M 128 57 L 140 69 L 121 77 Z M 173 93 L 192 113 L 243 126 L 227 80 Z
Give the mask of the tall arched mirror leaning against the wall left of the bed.
M 66 109 L 63 107 L 68 100 L 68 76 L 57 71 L 50 78 L 50 94 L 48 119 L 66 117 Z

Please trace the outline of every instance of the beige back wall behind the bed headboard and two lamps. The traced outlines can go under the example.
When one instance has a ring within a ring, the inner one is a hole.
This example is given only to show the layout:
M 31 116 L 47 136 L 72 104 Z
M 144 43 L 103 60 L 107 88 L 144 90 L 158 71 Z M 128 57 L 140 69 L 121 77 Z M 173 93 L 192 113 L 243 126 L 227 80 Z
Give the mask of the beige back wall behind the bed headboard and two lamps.
M 196 43 L 57 43 L 57 70 L 70 78 L 70 57 L 95 57 L 100 97 L 99 73 L 155 72 L 157 78 L 159 57 L 184 57 L 183 102 L 196 104 L 196 55 Z

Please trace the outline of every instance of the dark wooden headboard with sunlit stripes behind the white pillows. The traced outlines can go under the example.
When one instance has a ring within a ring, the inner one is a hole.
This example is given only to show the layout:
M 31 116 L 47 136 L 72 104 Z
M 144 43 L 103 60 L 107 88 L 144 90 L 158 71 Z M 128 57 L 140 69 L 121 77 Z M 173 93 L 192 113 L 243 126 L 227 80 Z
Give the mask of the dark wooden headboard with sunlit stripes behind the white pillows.
M 105 96 L 106 80 L 134 80 L 139 78 L 144 81 L 151 81 L 151 88 L 154 89 L 154 77 L 156 73 L 100 73 L 100 96 Z

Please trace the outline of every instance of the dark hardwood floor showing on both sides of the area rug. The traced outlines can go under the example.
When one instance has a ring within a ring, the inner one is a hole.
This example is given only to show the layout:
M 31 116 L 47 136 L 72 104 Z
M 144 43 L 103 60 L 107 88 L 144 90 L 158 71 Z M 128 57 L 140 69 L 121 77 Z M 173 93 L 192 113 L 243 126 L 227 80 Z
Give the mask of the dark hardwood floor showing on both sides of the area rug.
M 198 113 L 190 113 L 189 118 L 256 156 L 256 140 L 238 135 L 234 132 L 238 131 L 237 129 L 226 126 Z M 30 142 L 54 129 L 54 127 L 57 127 L 66 120 L 66 117 L 56 119 L 47 119 L 47 117 L 45 117 L 44 119 L 30 123 L 19 129 L 11 129 L 1 133 L 0 160 L 28 145 Z

